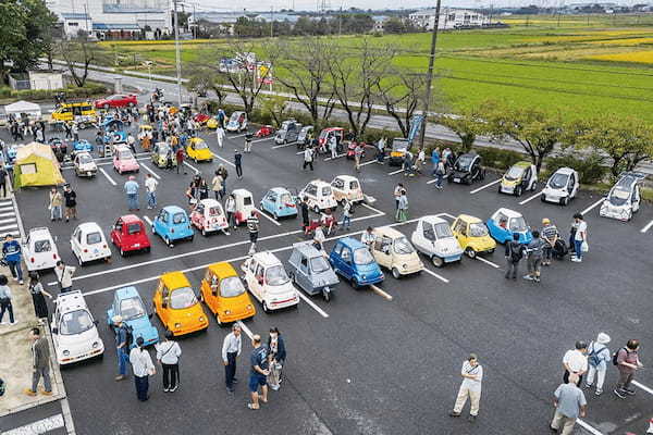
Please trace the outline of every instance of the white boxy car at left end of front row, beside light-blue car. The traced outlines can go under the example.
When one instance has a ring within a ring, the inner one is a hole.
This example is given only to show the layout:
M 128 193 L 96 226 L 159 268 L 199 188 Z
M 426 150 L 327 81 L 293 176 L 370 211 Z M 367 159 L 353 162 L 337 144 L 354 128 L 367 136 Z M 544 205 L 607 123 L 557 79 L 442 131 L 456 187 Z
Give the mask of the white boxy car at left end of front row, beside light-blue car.
M 84 295 L 74 290 L 54 300 L 56 309 L 50 330 L 60 365 L 101 357 L 104 344 L 98 334 L 98 321 L 93 319 Z

